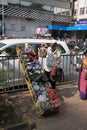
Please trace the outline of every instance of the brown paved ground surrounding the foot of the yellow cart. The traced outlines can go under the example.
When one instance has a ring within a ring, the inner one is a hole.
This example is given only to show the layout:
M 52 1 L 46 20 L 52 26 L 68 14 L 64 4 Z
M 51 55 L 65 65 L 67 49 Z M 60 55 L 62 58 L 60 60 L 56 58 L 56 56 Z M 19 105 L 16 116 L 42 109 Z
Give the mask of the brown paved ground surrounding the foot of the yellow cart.
M 87 100 L 79 97 L 77 83 L 58 85 L 56 88 L 62 101 L 56 114 L 38 117 L 28 92 L 17 94 L 15 104 L 27 122 L 34 122 L 37 130 L 87 130 Z

